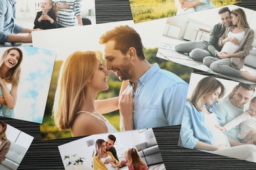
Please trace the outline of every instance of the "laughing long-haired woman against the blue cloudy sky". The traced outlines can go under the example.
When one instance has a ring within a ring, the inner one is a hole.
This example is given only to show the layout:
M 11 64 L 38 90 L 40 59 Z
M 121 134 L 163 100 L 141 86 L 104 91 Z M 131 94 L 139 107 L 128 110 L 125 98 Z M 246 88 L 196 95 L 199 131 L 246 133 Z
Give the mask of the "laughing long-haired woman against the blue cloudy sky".
M 14 118 L 20 80 L 20 63 L 23 54 L 20 48 L 8 48 L 0 59 L 0 115 Z

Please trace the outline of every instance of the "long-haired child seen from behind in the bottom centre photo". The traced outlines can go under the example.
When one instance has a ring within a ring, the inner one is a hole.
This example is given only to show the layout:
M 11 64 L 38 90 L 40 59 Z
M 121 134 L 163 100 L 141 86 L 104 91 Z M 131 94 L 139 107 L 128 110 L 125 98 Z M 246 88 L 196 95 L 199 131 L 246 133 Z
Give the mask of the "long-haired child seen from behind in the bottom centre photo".
M 137 150 L 135 148 L 129 148 L 125 151 L 125 161 L 121 161 L 115 165 L 115 163 L 111 162 L 112 167 L 119 167 L 127 165 L 129 170 L 147 170 L 146 163 L 144 163 Z

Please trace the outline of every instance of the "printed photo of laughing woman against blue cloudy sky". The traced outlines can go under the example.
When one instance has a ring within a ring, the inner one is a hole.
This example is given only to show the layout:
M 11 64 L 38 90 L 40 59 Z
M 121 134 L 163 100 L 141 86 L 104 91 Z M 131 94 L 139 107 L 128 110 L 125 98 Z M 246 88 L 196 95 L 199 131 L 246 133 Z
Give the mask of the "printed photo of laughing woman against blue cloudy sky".
M 42 123 L 56 53 L 24 46 L 0 56 L 0 116 Z

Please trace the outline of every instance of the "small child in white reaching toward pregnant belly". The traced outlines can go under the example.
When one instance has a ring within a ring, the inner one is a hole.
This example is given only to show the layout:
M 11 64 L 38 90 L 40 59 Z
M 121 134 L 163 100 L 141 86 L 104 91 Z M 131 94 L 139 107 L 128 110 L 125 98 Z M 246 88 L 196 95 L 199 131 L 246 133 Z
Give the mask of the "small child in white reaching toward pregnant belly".
M 234 118 L 228 122 L 225 126 L 219 127 L 221 131 L 229 131 L 232 127 L 240 124 L 240 133 L 238 138 L 241 139 L 242 143 L 247 143 L 247 133 L 251 130 L 256 130 L 256 97 L 253 97 L 249 103 L 249 110 L 240 114 L 240 116 Z M 256 139 L 254 136 L 253 139 Z M 251 139 L 250 139 L 251 140 Z

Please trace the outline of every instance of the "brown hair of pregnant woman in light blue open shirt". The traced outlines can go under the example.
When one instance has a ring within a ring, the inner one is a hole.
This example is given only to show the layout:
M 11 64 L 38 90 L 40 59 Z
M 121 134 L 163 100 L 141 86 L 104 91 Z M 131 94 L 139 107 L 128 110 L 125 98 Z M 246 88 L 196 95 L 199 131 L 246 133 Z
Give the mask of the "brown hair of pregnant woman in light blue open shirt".
M 192 92 L 190 102 L 192 103 L 192 105 L 194 105 L 194 107 L 196 107 L 197 110 L 201 111 L 201 107 L 204 102 L 203 97 L 206 97 L 207 95 L 211 95 L 219 87 L 221 88 L 221 93 L 219 93 L 219 98 L 221 98 L 225 93 L 225 88 L 223 84 L 212 76 L 206 76 L 205 78 L 200 80 L 200 82 L 198 82 L 198 84 L 196 85 L 196 88 Z

